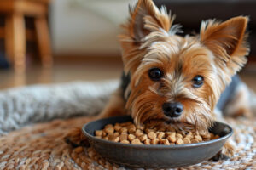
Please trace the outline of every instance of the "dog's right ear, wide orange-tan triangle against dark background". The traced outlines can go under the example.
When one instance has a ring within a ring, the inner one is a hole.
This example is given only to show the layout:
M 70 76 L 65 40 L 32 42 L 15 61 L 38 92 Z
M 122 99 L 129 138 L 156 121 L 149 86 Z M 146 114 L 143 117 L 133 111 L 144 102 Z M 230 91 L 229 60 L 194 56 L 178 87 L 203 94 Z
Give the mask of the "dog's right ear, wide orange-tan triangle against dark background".
M 207 20 L 201 24 L 201 43 L 212 51 L 222 69 L 229 69 L 230 76 L 247 62 L 247 22 L 247 17 L 238 16 L 222 23 Z

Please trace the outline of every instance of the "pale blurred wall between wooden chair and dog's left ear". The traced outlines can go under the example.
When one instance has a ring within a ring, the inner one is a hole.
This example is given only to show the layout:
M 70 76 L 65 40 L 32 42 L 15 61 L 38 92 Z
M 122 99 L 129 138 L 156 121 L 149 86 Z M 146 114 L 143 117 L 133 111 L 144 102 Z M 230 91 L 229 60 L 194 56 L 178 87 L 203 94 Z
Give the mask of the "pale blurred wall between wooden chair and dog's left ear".
M 119 24 L 128 16 L 131 0 L 55 0 L 51 6 L 54 54 L 119 54 Z

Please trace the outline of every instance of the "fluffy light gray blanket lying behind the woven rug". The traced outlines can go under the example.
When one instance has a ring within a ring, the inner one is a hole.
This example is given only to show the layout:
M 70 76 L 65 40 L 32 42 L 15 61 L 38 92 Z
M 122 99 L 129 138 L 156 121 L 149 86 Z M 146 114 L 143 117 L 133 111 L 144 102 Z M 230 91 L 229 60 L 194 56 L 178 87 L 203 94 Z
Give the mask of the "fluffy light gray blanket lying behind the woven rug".
M 0 91 L 0 135 L 36 122 L 95 115 L 118 84 L 117 80 L 68 82 Z

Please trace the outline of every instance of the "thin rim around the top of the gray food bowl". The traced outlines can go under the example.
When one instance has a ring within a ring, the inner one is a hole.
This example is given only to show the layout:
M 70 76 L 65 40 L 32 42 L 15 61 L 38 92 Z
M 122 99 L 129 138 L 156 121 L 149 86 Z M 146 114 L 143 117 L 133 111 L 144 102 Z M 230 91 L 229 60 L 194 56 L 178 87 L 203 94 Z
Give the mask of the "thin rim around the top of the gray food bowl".
M 119 142 L 113 142 L 113 141 L 109 141 L 109 140 L 106 140 L 106 139 L 98 139 L 98 138 L 96 138 L 96 136 L 90 135 L 90 133 L 85 131 L 85 128 L 88 127 L 91 123 L 94 123 L 94 122 L 97 122 L 97 121 L 103 121 L 103 120 L 106 120 L 106 119 L 114 119 L 116 117 L 121 117 L 121 116 L 112 116 L 112 117 L 98 119 L 96 121 L 88 122 L 88 123 L 84 124 L 84 126 L 82 127 L 82 132 L 84 133 L 84 135 L 87 138 L 93 139 L 98 143 L 110 144 L 110 145 L 119 146 L 119 147 L 127 147 L 127 148 L 130 148 L 130 149 L 131 148 L 133 148 L 133 149 L 139 148 L 139 149 L 158 149 L 158 150 L 161 150 L 161 149 L 164 149 L 164 150 L 166 150 L 166 149 L 185 149 L 185 148 L 191 148 L 191 147 L 192 148 L 201 147 L 201 146 L 204 146 L 204 145 L 218 143 L 218 142 L 223 141 L 225 139 L 229 139 L 230 136 L 232 136 L 232 134 L 234 133 L 233 129 L 232 129 L 232 127 L 230 127 L 230 125 L 228 125 L 224 122 L 215 121 L 217 123 L 223 124 L 225 127 L 228 127 L 230 129 L 230 133 L 228 133 L 228 134 L 226 134 L 226 135 L 224 135 L 224 136 L 222 136 L 218 139 L 212 139 L 212 140 L 199 142 L 199 143 L 195 143 L 195 144 L 174 144 L 174 145 L 149 144 L 149 145 L 146 145 L 146 144 L 122 144 L 122 143 L 119 143 Z

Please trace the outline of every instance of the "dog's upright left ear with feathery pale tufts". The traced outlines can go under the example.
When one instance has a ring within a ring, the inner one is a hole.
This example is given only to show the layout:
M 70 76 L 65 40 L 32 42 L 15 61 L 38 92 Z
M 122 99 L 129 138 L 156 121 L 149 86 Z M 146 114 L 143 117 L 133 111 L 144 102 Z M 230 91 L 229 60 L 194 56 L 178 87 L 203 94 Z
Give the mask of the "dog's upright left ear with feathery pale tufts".
M 141 42 L 151 31 L 168 32 L 174 19 L 166 8 L 159 10 L 152 0 L 138 0 L 134 7 L 130 6 L 130 15 L 125 27 L 134 42 Z

